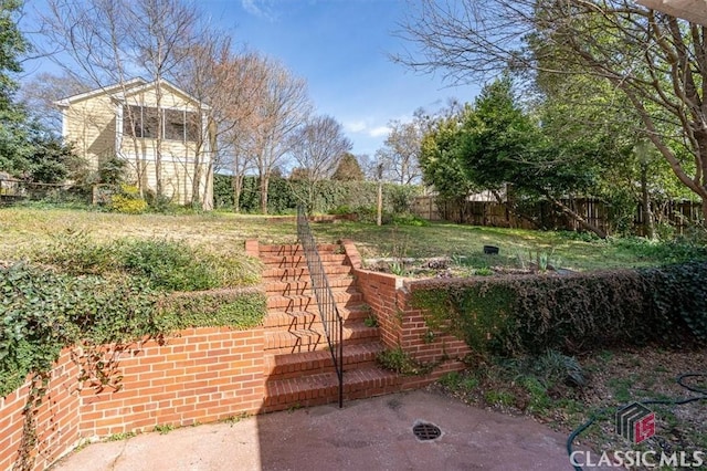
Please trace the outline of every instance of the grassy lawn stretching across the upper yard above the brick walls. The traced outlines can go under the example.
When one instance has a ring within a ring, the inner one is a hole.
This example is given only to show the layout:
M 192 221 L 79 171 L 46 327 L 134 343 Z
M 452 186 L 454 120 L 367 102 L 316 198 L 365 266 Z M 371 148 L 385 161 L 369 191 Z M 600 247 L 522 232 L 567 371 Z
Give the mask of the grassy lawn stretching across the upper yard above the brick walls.
M 363 258 L 463 255 L 474 266 L 518 266 L 535 261 L 538 254 L 547 254 L 552 264 L 587 271 L 654 265 L 694 255 L 674 244 L 582 240 L 567 233 L 451 223 L 377 227 L 329 222 L 313 223 L 312 228 L 319 242 L 352 239 Z M 250 238 L 257 238 L 263 243 L 296 241 L 296 224 L 292 217 L 228 212 L 129 216 L 54 208 L 1 208 L 0 231 L 0 260 L 31 257 L 34 250 L 49 244 L 56 234 L 75 231 L 84 231 L 98 241 L 125 237 L 183 240 L 228 253 L 243 251 L 243 242 Z M 483 245 L 486 244 L 497 245 L 499 255 L 484 255 Z

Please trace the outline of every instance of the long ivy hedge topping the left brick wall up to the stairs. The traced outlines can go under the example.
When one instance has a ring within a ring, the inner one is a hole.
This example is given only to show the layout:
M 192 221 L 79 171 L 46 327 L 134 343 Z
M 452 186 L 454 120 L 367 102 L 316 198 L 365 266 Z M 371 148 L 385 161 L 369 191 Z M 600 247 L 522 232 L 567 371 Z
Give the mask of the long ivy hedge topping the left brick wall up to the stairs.
M 165 293 L 133 276 L 74 276 L 27 263 L 0 265 L 0 397 L 29 374 L 49 371 L 66 346 L 250 328 L 265 316 L 265 294 L 252 287 Z

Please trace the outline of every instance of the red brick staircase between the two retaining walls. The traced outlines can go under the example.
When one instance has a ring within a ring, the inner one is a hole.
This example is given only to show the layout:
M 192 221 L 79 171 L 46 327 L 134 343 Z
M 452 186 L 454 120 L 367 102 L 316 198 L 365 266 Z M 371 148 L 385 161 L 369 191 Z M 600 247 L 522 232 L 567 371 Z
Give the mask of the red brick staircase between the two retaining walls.
M 377 327 L 366 325 L 369 307 L 351 265 L 337 244 L 318 245 L 329 285 L 344 317 L 344 397 L 395 390 L 398 376 L 376 366 L 382 350 Z M 265 317 L 265 412 L 338 400 L 338 379 L 328 349 L 309 270 L 300 245 L 260 245 L 267 293 Z

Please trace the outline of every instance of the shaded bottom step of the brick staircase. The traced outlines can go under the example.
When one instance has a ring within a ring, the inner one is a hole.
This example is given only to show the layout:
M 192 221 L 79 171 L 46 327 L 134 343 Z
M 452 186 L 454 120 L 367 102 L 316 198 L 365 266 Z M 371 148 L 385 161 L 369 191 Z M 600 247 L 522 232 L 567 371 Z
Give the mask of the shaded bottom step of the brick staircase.
M 395 393 L 400 377 L 376 367 L 357 368 L 344 374 L 344 399 L 352 400 Z M 312 407 L 338 400 L 338 378 L 335 373 L 307 375 L 299 378 L 274 379 L 265 383 L 264 412 L 292 407 Z

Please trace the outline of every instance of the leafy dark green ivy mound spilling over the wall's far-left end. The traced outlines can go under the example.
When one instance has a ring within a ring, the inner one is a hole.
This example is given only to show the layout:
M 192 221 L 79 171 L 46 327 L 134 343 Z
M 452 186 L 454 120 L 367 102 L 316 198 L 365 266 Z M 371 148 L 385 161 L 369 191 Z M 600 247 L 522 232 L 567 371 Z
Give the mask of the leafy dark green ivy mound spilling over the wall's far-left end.
M 0 269 L 0 396 L 46 371 L 62 347 L 156 333 L 154 299 L 130 279 L 54 273 L 23 263 Z

